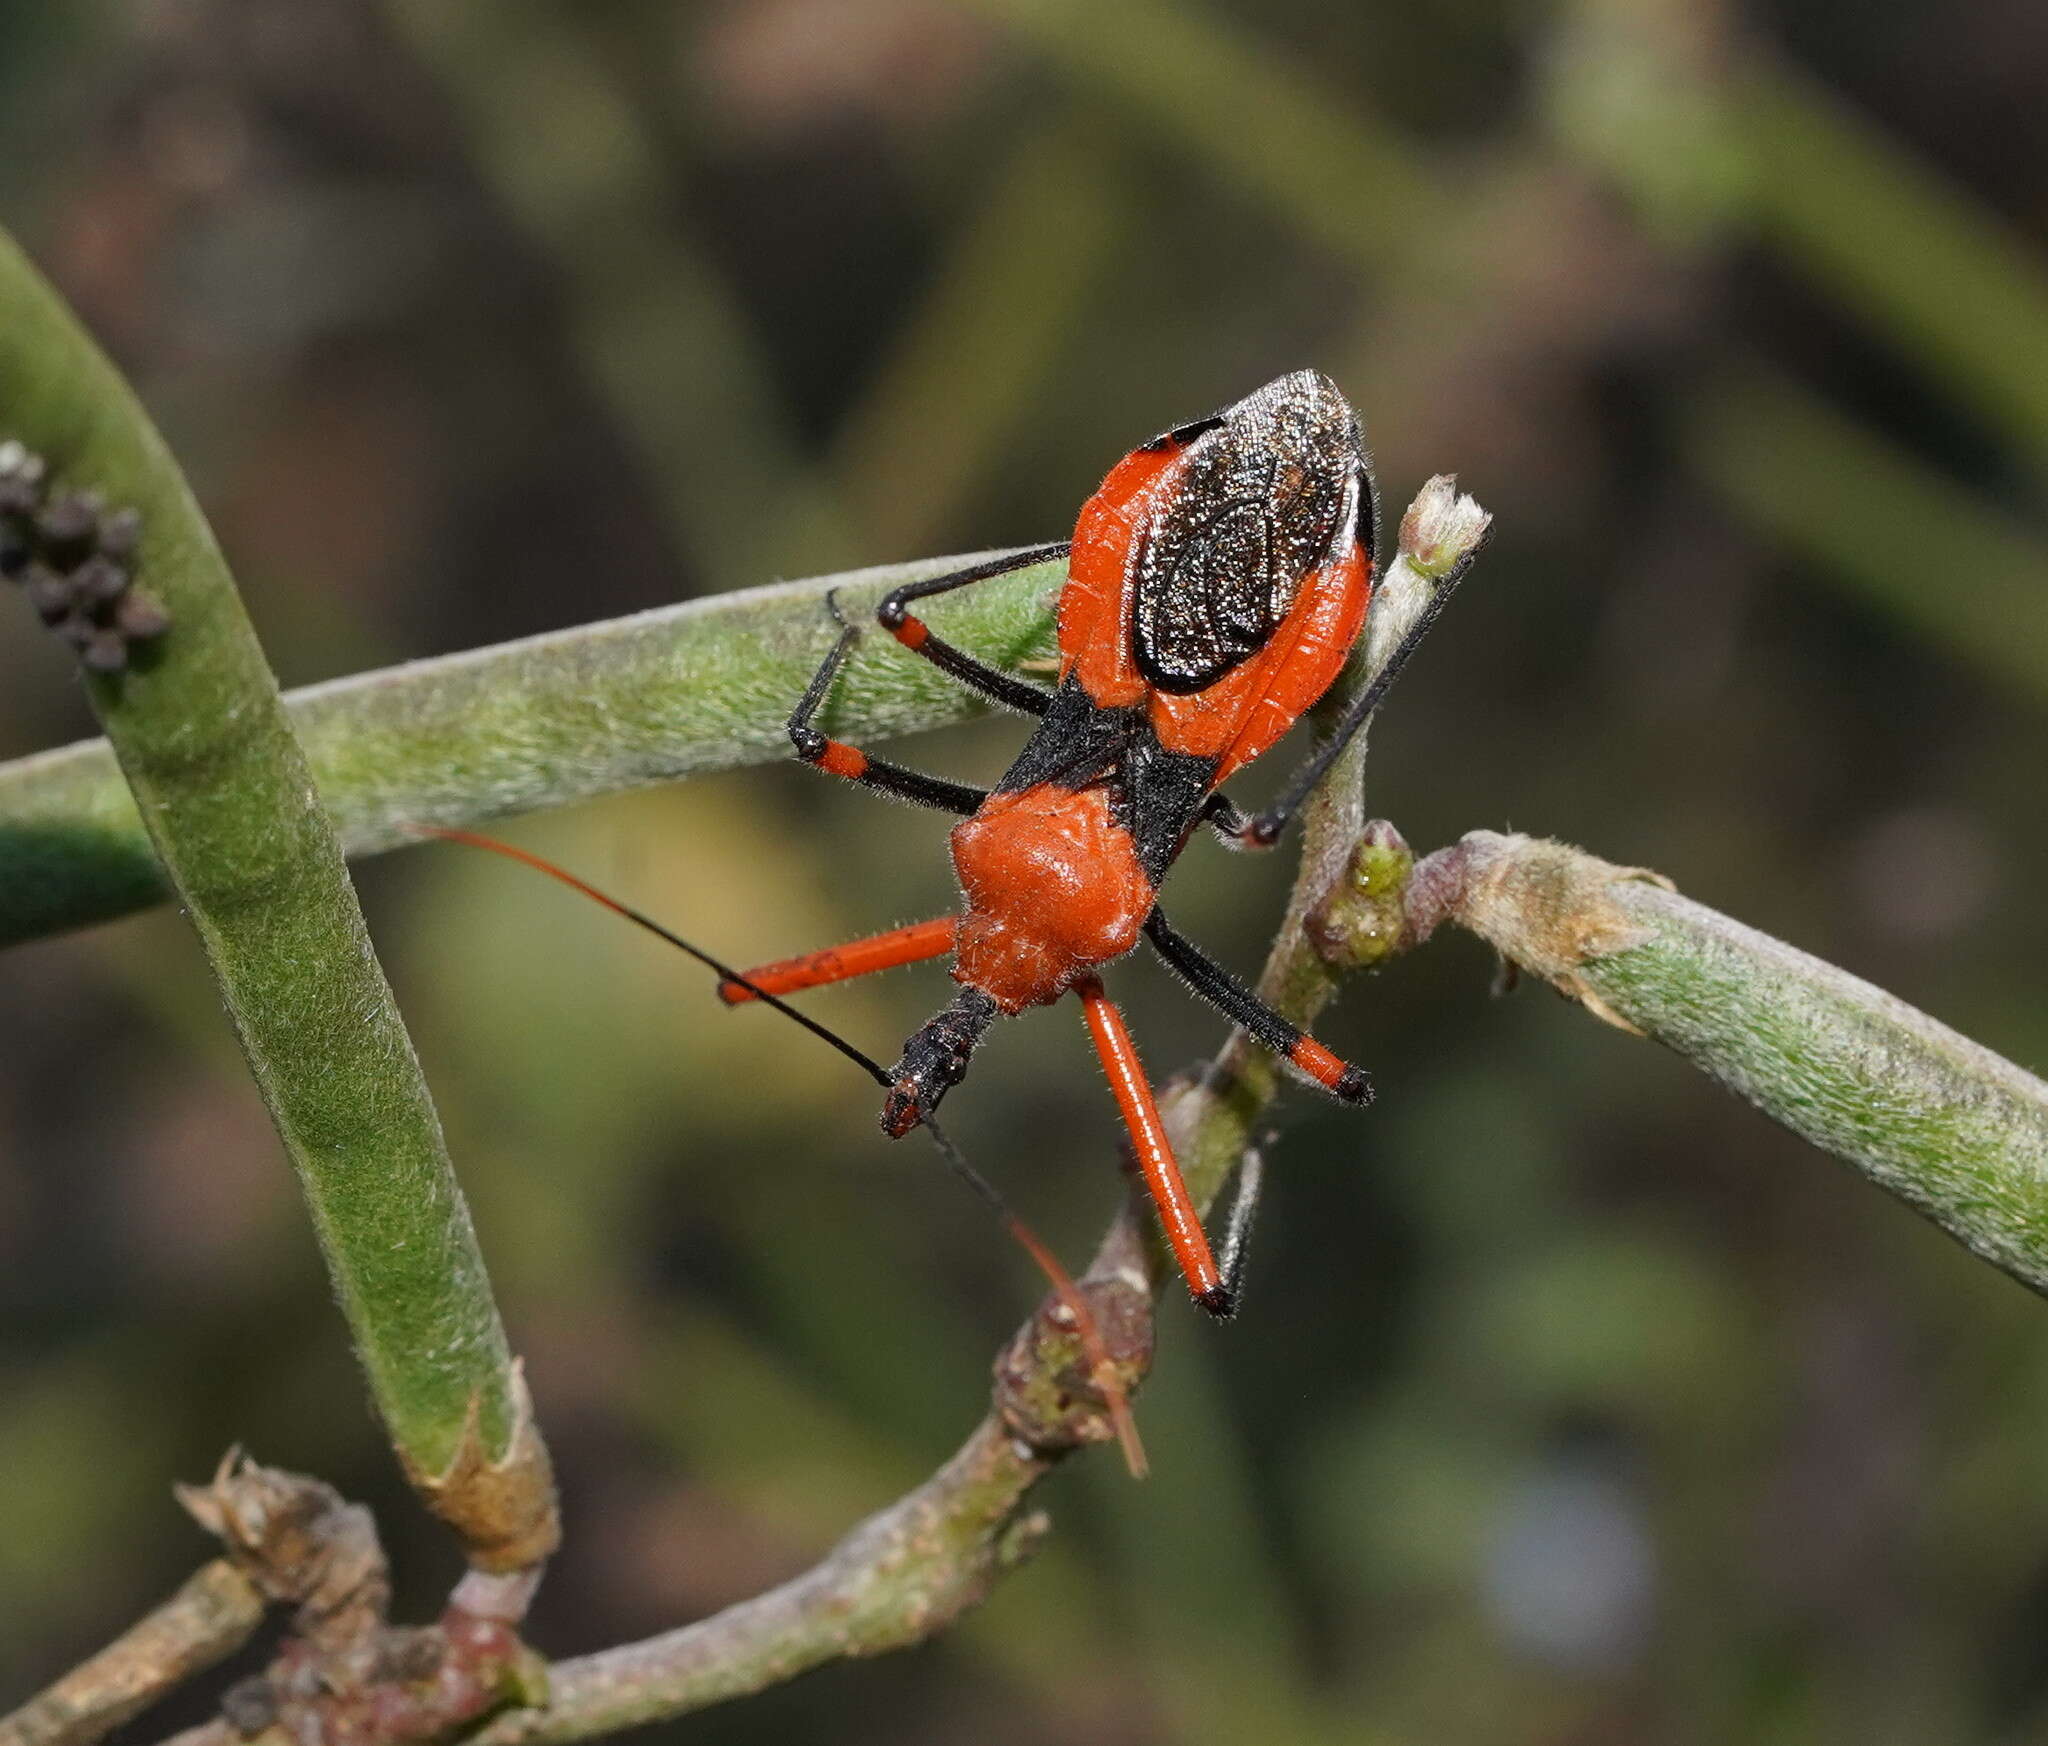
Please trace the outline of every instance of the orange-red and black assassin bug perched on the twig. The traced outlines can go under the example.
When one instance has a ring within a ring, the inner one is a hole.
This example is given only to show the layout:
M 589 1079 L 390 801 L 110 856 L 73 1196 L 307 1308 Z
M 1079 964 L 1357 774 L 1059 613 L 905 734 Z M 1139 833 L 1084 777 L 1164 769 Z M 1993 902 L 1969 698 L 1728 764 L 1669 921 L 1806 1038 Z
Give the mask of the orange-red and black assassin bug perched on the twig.
M 1126 454 L 1081 508 L 1071 542 L 889 594 L 877 618 L 905 649 L 1038 718 L 1016 763 L 983 792 L 819 733 L 813 721 L 856 626 L 842 628 L 788 735 L 799 757 L 831 776 L 961 815 L 952 866 L 965 909 L 721 985 L 739 1003 L 950 952 L 961 991 L 905 1042 L 889 1075 L 883 1128 L 895 1136 L 930 1120 L 999 1015 L 1077 995 L 1174 1257 L 1194 1300 L 1217 1316 L 1231 1314 L 1235 1285 L 1210 1253 L 1098 970 L 1145 937 L 1198 995 L 1311 1083 L 1346 1103 L 1370 1101 L 1362 1068 L 1178 933 L 1157 892 L 1202 823 L 1239 843 L 1272 843 L 1425 628 L 1415 626 L 1272 809 L 1247 817 L 1223 796 L 1221 784 L 1270 749 L 1343 669 L 1372 600 L 1376 526 L 1356 413 L 1327 377 L 1296 370 Z M 1051 690 L 983 665 L 911 612 L 930 596 L 1053 557 L 1067 557 L 1067 585 Z

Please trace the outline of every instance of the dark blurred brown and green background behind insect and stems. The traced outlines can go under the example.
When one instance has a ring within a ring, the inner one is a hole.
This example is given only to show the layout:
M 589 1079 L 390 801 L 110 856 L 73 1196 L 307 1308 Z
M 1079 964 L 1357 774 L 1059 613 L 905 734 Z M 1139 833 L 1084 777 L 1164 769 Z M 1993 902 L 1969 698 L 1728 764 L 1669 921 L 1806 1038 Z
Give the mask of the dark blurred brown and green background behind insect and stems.
M 1657 866 L 2048 1060 L 2040 0 L 6 0 L 0 43 L 0 221 L 287 684 L 1057 538 L 1313 362 L 1391 514 L 1434 471 L 1497 514 L 1376 811 Z M 0 755 L 90 731 L 25 626 Z M 748 960 L 944 907 L 942 829 L 776 768 L 520 837 Z M 1249 970 L 1284 874 L 1198 845 L 1176 913 Z M 1036 1283 L 872 1091 L 500 862 L 362 884 L 561 1468 L 539 1642 L 754 1592 L 936 1466 Z M 2048 1310 L 1489 980 L 1446 940 L 1327 1019 L 1380 1103 L 1290 1101 L 1237 1324 L 1167 1302 L 1149 1484 L 1075 1464 L 944 1642 L 666 1734 L 2048 1734 Z M 815 1009 L 887 1054 L 942 987 Z M 1214 1048 L 1120 987 L 1161 1077 Z M 0 1052 L 8 1693 L 205 1556 L 168 1484 L 229 1441 L 371 1498 L 432 1609 L 176 917 L 10 954 Z M 1083 1253 L 1114 1116 L 1069 1013 L 954 1128 Z

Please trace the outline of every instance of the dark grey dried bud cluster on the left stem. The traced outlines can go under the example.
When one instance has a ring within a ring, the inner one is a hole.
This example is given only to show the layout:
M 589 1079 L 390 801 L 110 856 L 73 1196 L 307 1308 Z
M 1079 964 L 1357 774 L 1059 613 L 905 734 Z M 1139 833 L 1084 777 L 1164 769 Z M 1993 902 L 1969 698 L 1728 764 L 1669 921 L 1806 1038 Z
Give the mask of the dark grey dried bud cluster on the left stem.
M 131 645 L 170 628 L 164 608 L 133 592 L 141 522 L 92 491 L 49 491 L 43 473 L 39 454 L 0 442 L 0 575 L 86 667 L 119 673 Z

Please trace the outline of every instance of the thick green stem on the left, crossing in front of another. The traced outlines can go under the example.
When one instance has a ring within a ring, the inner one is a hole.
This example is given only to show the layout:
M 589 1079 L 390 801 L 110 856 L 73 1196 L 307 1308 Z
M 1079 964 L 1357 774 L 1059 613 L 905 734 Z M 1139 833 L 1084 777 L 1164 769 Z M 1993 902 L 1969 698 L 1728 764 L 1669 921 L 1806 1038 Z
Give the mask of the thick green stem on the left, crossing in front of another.
M 553 1533 L 545 1449 L 276 682 L 162 438 L 6 237 L 0 418 L 55 481 L 141 516 L 139 585 L 172 628 L 86 694 L 299 1171 L 399 1459 L 451 1519 L 496 1486 L 496 1525 L 459 1527 L 475 1558 L 524 1562 Z

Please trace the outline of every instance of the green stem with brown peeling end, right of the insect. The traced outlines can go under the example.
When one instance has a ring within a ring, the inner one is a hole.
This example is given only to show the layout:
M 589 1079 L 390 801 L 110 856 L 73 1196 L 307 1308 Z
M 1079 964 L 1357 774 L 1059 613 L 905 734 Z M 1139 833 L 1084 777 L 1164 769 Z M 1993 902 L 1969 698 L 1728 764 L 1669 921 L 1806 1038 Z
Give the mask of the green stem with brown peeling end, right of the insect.
M 1737 1097 L 2048 1294 L 2048 1085 L 1948 1025 L 1661 880 L 1475 831 L 1415 866 L 1438 919 Z

